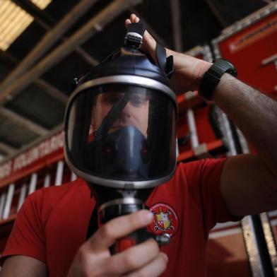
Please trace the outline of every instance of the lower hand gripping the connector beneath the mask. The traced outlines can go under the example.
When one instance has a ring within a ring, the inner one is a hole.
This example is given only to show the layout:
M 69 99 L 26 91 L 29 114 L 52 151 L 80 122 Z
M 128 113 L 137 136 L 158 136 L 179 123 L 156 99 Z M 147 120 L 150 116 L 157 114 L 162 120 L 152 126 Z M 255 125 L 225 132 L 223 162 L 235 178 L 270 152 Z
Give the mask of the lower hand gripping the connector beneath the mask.
M 138 211 L 110 220 L 78 250 L 68 277 L 78 276 L 159 276 L 167 256 L 155 240 L 147 240 L 124 252 L 110 255 L 109 247 L 120 237 L 146 227 L 153 220 L 149 211 Z

